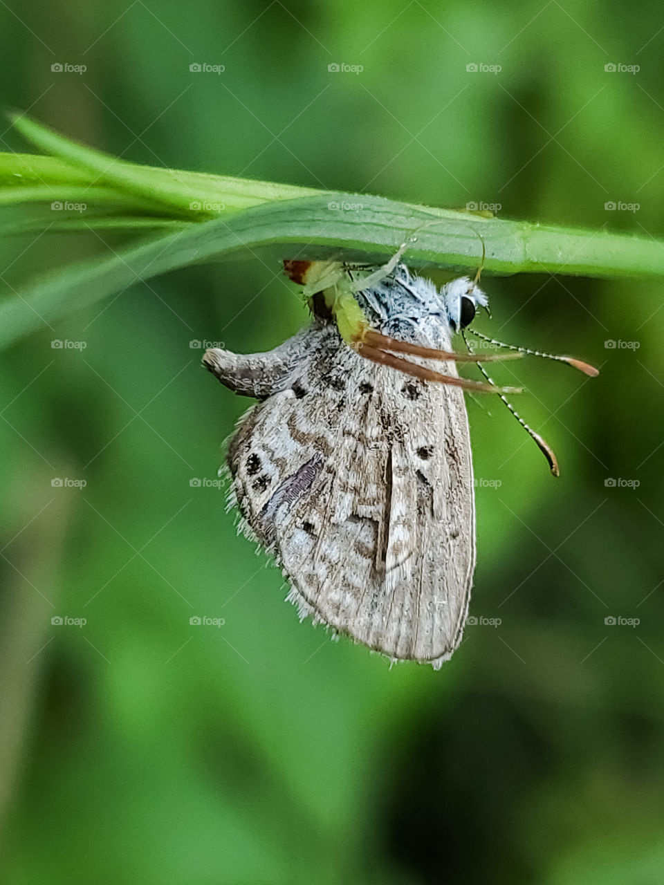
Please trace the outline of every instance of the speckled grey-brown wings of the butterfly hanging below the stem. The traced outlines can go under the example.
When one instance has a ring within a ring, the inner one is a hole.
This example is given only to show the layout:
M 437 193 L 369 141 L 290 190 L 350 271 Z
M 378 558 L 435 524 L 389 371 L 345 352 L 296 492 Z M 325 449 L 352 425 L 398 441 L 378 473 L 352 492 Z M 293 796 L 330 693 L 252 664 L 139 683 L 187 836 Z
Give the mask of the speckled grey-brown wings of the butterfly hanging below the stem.
M 463 394 L 368 363 L 334 328 L 317 335 L 230 444 L 236 501 L 303 615 L 439 666 L 475 566 Z

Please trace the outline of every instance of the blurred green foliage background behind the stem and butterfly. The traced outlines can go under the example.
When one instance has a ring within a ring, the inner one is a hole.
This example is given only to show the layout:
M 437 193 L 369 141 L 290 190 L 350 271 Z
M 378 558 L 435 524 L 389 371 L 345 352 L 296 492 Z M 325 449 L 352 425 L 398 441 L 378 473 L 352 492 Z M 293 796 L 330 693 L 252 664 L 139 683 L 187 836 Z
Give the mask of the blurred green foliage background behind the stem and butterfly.
M 664 236 L 659 4 L 8 0 L 0 19 L 3 103 L 125 159 Z M 5 239 L 4 292 L 107 248 Z M 559 481 L 498 400 L 468 401 L 471 614 L 501 623 L 438 673 L 300 624 L 205 485 L 248 403 L 190 342 L 293 334 L 276 263 L 137 283 L 4 353 L 4 881 L 662 880 L 662 287 L 484 285 L 485 332 L 602 372 L 496 373 L 527 386 Z

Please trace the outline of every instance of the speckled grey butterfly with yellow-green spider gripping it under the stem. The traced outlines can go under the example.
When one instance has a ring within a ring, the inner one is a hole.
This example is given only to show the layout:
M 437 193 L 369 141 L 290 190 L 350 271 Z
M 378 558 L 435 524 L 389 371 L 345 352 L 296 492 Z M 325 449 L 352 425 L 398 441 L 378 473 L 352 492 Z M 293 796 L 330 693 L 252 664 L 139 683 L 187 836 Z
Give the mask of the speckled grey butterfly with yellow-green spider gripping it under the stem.
M 477 278 L 437 289 L 400 257 L 377 270 L 284 262 L 305 285 L 312 324 L 267 353 L 212 349 L 203 362 L 259 400 L 228 446 L 230 500 L 288 577 L 300 618 L 437 669 L 461 641 L 475 567 L 463 390 L 498 393 L 516 415 L 513 389 L 485 370 L 482 382 L 459 378 L 455 363 L 483 369 L 528 352 L 597 370 L 512 345 L 453 353 L 452 335 L 487 306 Z M 557 474 L 552 450 L 516 417 Z

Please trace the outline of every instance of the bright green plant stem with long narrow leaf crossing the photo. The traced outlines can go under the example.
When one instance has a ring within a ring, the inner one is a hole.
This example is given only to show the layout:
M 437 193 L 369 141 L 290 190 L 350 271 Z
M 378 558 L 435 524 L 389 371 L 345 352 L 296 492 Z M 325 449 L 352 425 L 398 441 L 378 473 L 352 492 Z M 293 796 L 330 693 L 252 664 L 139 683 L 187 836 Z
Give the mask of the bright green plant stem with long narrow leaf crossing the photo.
M 664 275 L 664 243 L 652 237 L 157 169 L 90 150 L 26 117 L 15 125 L 58 156 L 0 155 L 0 206 L 29 209 L 0 226 L 1 233 L 105 229 L 153 235 L 60 268 L 20 293 L 12 290 L 0 303 L 2 345 L 44 323 L 52 328 L 135 281 L 226 258 L 259 258 L 275 273 L 284 258 L 381 265 L 405 243 L 409 266 L 454 273 L 475 273 L 483 261 L 484 273 Z M 56 200 L 86 209 L 53 211 Z

